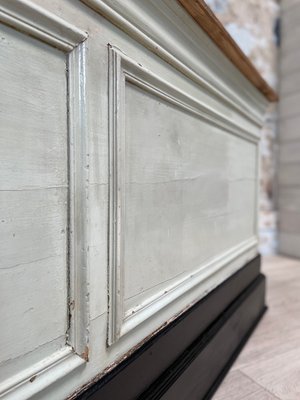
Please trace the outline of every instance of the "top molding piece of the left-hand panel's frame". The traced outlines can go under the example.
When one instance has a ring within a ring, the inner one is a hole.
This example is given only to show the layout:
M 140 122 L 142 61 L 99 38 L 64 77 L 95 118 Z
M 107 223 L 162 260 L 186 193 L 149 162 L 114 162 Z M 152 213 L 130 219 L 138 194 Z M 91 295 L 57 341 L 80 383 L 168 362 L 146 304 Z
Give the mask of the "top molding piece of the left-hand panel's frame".
M 87 33 L 28 0 L 1 0 L 0 22 L 69 52 Z

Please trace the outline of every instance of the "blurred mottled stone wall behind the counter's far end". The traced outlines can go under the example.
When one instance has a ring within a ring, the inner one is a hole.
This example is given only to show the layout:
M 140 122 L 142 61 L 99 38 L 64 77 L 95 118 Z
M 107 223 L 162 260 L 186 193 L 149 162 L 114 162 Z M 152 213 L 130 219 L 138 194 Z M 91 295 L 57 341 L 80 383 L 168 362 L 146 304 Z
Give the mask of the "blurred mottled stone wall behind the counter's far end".
M 277 87 L 277 0 L 206 0 L 244 53 L 266 81 Z M 259 215 L 260 252 L 277 249 L 277 213 L 274 201 L 276 154 L 275 105 L 265 117 L 261 141 L 261 196 Z

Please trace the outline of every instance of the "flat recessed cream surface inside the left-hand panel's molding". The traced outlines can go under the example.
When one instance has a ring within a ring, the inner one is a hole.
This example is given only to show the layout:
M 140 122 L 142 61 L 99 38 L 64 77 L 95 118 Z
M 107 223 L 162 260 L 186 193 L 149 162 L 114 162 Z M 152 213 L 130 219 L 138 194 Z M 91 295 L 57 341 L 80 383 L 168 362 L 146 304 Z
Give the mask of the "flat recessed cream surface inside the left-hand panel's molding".
M 4 25 L 0 48 L 3 363 L 65 344 L 68 135 L 66 55 Z

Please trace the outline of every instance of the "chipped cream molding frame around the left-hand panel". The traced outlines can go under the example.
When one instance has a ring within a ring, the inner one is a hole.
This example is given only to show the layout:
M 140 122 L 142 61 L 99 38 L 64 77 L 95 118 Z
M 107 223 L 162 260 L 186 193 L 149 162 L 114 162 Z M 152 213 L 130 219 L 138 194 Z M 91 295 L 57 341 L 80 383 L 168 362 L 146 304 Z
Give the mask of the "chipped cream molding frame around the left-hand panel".
M 66 345 L 0 384 L 4 399 L 31 398 L 88 360 L 86 32 L 27 0 L 3 0 L 0 22 L 61 50 L 67 61 L 69 240 Z M 37 379 L 38 378 L 38 379 Z

